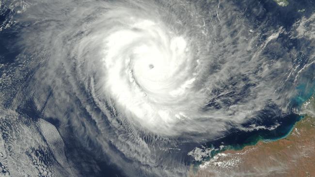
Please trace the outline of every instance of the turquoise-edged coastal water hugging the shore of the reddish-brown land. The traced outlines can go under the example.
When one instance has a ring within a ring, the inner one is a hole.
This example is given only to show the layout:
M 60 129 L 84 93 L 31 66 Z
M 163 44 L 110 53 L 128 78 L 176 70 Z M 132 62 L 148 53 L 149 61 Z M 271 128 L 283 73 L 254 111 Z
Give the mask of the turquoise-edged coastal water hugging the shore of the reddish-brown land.
M 291 107 L 293 109 L 300 109 L 302 104 L 309 100 L 312 95 L 314 95 L 314 86 L 314 82 L 312 82 L 311 84 L 300 84 L 296 89 L 298 93 L 297 96 L 293 98 L 290 103 Z M 211 151 L 209 157 L 205 158 L 205 161 L 211 159 L 216 154 L 228 149 L 241 150 L 246 146 L 256 145 L 259 141 L 272 142 L 283 139 L 292 132 L 295 124 L 303 118 L 304 115 L 298 114 L 291 114 L 283 118 L 277 118 L 280 120 L 278 122 L 279 126 L 276 127 L 274 130 L 260 129 L 251 132 L 234 130 L 233 133 L 223 138 L 207 143 L 206 147 L 213 148 L 214 150 Z M 271 124 L 272 121 L 267 121 L 265 126 L 268 127 Z M 220 148 L 221 145 L 224 145 L 224 147 Z M 195 165 L 197 166 L 200 163 L 201 162 L 197 162 L 195 163 Z

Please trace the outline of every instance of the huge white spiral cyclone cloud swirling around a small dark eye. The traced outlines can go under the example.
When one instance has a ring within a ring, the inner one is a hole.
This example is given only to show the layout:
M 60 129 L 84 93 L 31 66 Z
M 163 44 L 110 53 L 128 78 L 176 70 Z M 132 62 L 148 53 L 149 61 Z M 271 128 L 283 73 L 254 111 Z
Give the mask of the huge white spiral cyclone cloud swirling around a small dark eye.
M 2 2 L 11 175 L 184 176 L 194 147 L 298 113 L 297 88 L 314 82 L 314 15 L 284 26 L 239 4 Z

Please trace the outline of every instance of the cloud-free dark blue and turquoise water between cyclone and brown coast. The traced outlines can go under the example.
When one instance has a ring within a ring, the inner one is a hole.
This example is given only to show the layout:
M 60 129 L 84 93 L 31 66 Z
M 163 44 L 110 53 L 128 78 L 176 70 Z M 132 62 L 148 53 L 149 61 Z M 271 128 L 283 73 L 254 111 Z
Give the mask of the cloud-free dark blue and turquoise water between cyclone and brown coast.
M 204 148 L 214 149 L 204 160 L 209 160 L 214 155 L 228 149 L 241 150 L 246 146 L 256 145 L 259 141 L 276 141 L 289 135 L 295 124 L 304 118 L 302 115 L 295 114 L 294 110 L 298 110 L 314 95 L 315 82 L 300 84 L 296 91 L 297 96 L 292 98 L 289 103 L 291 114 L 277 117 L 277 111 L 270 112 L 272 109 L 275 110 L 275 107 L 262 111 L 259 119 L 252 119 L 243 124 L 244 129 L 233 128 L 225 136 L 203 144 Z M 190 162 L 193 162 L 192 158 L 190 158 Z M 197 162 L 196 165 L 199 163 Z

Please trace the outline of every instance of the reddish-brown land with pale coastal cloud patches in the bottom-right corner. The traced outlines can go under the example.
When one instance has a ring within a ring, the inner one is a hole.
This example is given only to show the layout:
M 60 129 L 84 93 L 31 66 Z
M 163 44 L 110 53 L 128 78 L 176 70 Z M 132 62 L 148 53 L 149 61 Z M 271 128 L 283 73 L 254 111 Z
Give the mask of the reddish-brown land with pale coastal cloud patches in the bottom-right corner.
M 222 151 L 197 171 L 191 167 L 189 177 L 315 177 L 315 97 L 304 107 L 309 116 L 285 138 Z

